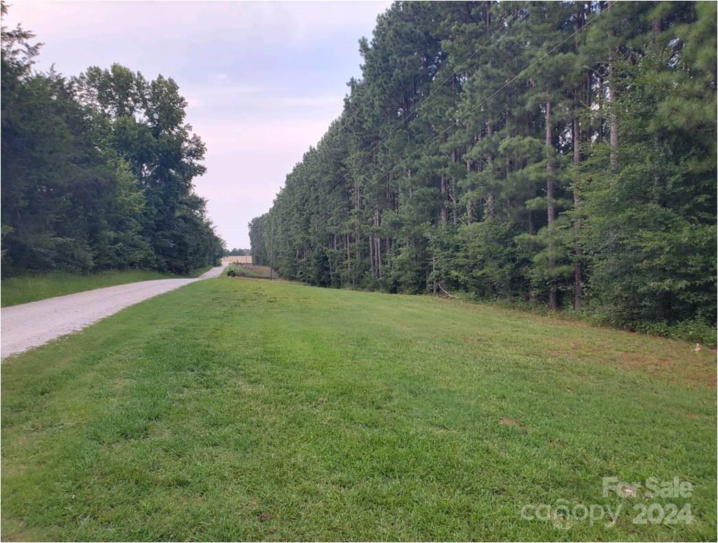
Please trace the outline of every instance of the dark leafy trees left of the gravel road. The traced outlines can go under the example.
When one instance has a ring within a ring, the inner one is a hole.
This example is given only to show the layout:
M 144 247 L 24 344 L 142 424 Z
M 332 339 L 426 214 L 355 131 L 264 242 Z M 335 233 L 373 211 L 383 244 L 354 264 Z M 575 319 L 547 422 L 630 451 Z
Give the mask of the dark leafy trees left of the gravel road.
M 174 80 L 121 65 L 40 73 L 33 38 L 2 28 L 3 277 L 218 261 L 223 241 L 192 189 L 205 146 Z

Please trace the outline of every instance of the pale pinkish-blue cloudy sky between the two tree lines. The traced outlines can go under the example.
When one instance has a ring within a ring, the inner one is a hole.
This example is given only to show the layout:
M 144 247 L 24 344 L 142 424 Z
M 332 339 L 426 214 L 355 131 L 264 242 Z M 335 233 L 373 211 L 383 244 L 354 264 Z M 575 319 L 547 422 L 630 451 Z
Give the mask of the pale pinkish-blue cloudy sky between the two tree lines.
M 64 75 L 120 62 L 174 78 L 207 144 L 195 180 L 227 245 L 342 111 L 360 75 L 358 40 L 390 4 L 367 2 L 10 1 L 3 24 L 44 42 L 37 68 Z

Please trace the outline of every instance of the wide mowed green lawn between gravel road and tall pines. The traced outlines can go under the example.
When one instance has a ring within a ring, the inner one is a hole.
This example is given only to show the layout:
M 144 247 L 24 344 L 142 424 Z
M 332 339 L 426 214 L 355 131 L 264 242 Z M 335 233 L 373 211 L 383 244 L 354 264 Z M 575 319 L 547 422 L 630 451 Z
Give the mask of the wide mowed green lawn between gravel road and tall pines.
M 197 282 L 4 361 L 2 538 L 714 539 L 715 353 L 692 347 Z M 610 476 L 693 492 L 602 496 Z M 634 524 L 639 502 L 694 521 Z M 612 527 L 521 516 L 561 503 L 624 509 Z

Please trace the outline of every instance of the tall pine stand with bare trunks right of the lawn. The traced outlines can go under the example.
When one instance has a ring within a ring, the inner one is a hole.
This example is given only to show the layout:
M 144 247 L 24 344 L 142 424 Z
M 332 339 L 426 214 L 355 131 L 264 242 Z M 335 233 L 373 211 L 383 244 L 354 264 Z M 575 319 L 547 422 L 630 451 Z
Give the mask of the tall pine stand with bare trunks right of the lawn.
M 712 335 L 716 32 L 714 2 L 396 2 L 253 259 Z

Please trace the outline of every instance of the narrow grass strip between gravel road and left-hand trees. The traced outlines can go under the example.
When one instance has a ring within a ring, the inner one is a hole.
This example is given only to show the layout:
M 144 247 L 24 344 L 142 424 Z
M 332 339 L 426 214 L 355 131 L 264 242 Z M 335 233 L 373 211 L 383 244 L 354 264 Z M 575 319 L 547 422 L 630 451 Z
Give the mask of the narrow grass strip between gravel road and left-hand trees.
M 212 266 L 193 270 L 182 277 L 199 277 Z M 159 271 L 126 269 L 122 271 L 102 271 L 97 274 L 69 274 L 65 271 L 50 271 L 44 274 L 29 274 L 3 279 L 0 284 L 1 307 L 25 304 L 36 300 L 45 300 L 65 294 L 75 294 L 85 290 L 114 287 L 116 284 L 149 281 L 149 279 L 172 279 L 180 277 L 162 274 Z

